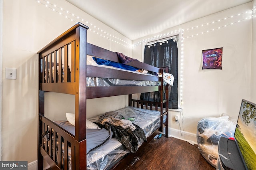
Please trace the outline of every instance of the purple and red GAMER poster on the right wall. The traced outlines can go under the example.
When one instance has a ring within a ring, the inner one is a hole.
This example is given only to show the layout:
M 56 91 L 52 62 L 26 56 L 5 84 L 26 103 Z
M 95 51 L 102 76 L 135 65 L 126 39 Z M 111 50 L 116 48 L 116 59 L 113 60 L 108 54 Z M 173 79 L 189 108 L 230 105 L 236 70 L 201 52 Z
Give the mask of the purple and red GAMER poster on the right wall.
M 222 47 L 202 50 L 202 69 L 222 69 Z

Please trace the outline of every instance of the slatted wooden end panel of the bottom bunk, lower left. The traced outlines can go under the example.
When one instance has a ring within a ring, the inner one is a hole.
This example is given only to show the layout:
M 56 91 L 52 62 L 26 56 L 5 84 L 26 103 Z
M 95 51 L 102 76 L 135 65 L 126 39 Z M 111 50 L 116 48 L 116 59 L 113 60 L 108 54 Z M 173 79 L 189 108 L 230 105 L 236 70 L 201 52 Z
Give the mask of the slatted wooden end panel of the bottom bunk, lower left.
M 68 154 L 70 154 L 69 152 L 71 151 L 72 158 L 77 158 L 71 159 L 72 169 L 78 169 L 76 167 L 78 162 L 76 161 L 79 160 L 79 147 L 84 145 L 84 153 L 86 153 L 86 140 L 78 142 L 72 134 L 68 133 L 46 117 L 40 116 L 40 119 L 42 123 L 42 134 L 48 135 L 48 137 L 42 136 L 42 141 L 39 145 L 43 157 L 47 159 L 47 162 L 51 162 L 51 167 L 54 166 L 54 169 L 66 169 L 69 160 Z M 46 138 L 48 138 L 48 140 L 46 140 Z M 62 153 L 63 148 L 64 153 Z M 84 157 L 84 163 L 80 162 L 80 166 L 86 167 L 86 154 L 83 154 L 82 157 Z

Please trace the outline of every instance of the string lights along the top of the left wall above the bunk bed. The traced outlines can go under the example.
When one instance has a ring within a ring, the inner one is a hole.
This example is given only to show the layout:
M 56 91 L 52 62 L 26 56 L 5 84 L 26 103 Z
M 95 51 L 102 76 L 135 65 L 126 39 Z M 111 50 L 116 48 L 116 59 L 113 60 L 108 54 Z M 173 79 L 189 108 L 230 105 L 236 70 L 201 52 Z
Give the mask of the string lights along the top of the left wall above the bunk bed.
M 119 38 L 117 36 L 109 34 L 108 32 L 106 32 L 106 31 L 102 30 L 101 28 L 97 27 L 96 25 L 92 24 L 91 22 L 84 20 L 82 17 L 80 17 L 72 12 L 69 12 L 68 10 L 65 10 L 64 8 L 61 8 L 61 7 L 57 6 L 56 4 L 52 4 L 51 2 L 49 2 L 47 0 L 36 0 L 36 1 L 38 3 L 44 5 L 46 8 L 50 8 L 54 12 L 60 14 L 61 16 L 64 16 L 65 18 L 67 18 L 68 20 L 70 20 L 74 23 L 78 23 L 78 22 L 85 23 L 87 26 L 89 26 L 89 31 L 93 32 L 94 34 L 97 34 L 103 38 L 106 38 L 107 40 L 110 40 L 114 43 L 120 44 L 124 47 L 132 48 L 131 43 L 126 42 L 122 38 Z

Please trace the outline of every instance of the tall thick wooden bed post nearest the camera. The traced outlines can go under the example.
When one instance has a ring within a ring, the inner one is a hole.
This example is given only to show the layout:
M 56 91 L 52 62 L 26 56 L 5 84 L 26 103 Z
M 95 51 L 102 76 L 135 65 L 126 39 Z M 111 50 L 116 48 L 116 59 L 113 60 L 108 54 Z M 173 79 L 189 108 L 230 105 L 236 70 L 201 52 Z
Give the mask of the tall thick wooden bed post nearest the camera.
M 76 62 L 76 95 L 75 95 L 75 138 L 79 143 L 76 169 L 86 169 L 86 55 L 87 26 L 80 24 L 76 28 L 75 62 Z

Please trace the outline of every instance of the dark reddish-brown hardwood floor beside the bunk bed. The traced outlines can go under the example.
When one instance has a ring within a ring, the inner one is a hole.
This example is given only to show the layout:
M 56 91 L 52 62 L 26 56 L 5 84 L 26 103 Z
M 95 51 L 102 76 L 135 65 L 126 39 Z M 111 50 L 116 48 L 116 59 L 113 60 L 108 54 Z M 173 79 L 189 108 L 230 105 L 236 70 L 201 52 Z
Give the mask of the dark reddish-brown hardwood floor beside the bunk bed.
M 216 170 L 197 145 L 173 137 L 153 139 L 135 158 L 126 170 Z

